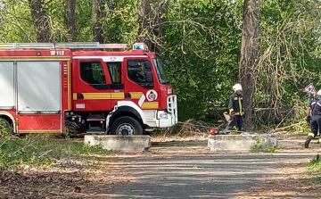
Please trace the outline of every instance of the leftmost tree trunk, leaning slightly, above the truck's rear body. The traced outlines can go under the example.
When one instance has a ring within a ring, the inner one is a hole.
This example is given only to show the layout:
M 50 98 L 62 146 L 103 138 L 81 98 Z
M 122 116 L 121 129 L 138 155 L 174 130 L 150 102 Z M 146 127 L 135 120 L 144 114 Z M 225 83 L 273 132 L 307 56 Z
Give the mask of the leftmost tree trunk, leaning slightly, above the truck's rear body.
M 37 42 L 53 42 L 50 20 L 41 0 L 29 0 L 33 24 L 36 28 Z

